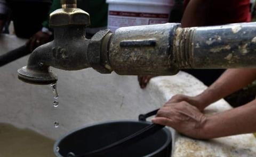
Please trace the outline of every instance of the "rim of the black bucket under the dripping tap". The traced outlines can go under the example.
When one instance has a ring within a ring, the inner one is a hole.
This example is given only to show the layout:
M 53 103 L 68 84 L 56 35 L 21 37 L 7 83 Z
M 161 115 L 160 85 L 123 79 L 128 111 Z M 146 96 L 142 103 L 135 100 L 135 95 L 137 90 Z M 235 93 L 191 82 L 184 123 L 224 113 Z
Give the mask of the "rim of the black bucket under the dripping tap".
M 105 121 L 105 122 L 101 122 L 101 123 L 97 123 L 97 124 L 89 124 L 89 125 L 85 125 L 83 127 L 79 127 L 79 128 L 76 128 L 74 130 L 71 130 L 70 132 L 68 132 L 67 134 L 65 135 L 62 135 L 60 138 L 58 138 L 56 140 L 56 142 L 54 143 L 54 146 L 53 146 L 53 152 L 54 154 L 57 156 L 57 157 L 63 157 L 59 152 L 56 151 L 56 148 L 57 146 L 59 145 L 59 143 L 67 136 L 81 130 L 81 129 L 85 129 L 85 128 L 89 128 L 89 127 L 94 127 L 94 126 L 98 126 L 98 125 L 103 125 L 103 124 L 111 124 L 111 123 L 124 123 L 124 122 L 134 122 L 134 123 L 143 123 L 143 124 L 152 124 L 151 122 L 149 121 L 138 121 L 138 120 L 111 120 L 111 121 Z M 141 157 L 148 157 L 148 156 L 153 156 L 161 151 L 163 151 L 166 147 L 168 147 L 169 145 L 172 145 L 172 133 L 171 133 L 171 130 L 169 130 L 167 127 L 164 127 L 162 128 L 162 130 L 164 130 L 164 132 L 166 133 L 166 141 L 165 143 L 159 147 L 158 150 L 156 150 L 155 152 L 152 152 L 146 156 L 141 156 Z M 172 147 L 172 146 L 171 146 Z

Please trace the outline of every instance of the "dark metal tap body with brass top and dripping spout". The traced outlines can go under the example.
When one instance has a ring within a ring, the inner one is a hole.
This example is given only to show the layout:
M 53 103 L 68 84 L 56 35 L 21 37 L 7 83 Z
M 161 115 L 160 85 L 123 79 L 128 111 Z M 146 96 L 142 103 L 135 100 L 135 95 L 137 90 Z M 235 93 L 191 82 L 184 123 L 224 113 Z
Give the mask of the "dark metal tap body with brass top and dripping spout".
M 28 65 L 18 70 L 18 78 L 32 84 L 51 84 L 58 80 L 50 66 L 65 70 L 90 67 L 87 60 L 85 28 L 90 25 L 90 15 L 76 8 L 76 0 L 61 0 L 62 8 L 50 14 L 50 27 L 54 40 L 34 50 Z

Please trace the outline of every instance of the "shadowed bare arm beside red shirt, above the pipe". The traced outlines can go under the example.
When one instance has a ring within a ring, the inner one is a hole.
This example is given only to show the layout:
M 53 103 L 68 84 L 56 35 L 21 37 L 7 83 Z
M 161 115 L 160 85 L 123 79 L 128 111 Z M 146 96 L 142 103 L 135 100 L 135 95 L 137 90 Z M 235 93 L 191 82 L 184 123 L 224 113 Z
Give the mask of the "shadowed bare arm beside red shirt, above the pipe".
M 210 2 L 211 0 L 190 0 L 181 20 L 182 27 L 205 25 Z

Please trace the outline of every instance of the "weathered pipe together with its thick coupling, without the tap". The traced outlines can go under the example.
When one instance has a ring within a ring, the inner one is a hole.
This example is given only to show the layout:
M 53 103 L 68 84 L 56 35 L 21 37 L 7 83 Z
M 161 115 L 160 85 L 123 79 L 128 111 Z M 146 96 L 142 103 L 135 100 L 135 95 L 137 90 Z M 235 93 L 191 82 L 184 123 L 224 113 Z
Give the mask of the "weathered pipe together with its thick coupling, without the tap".
M 172 75 L 191 68 L 255 68 L 255 28 L 256 23 L 120 28 L 110 40 L 110 65 L 121 75 Z

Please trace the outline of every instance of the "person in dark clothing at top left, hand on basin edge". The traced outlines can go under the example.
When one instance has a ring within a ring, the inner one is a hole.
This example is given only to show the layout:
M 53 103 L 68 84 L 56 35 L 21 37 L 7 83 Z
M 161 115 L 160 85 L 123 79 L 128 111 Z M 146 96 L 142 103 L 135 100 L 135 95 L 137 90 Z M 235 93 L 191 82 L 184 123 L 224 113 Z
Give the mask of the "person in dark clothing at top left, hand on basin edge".
M 13 21 L 15 34 L 30 39 L 30 50 L 49 42 L 52 33 L 43 29 L 52 0 L 0 0 L 0 33 L 5 23 Z M 39 31 L 39 32 L 38 32 Z

